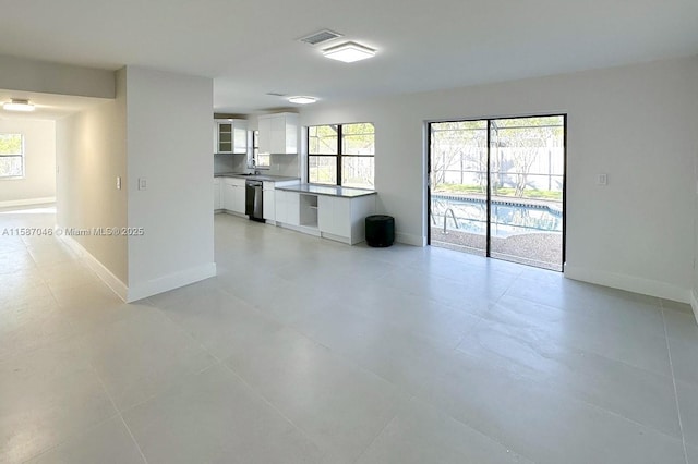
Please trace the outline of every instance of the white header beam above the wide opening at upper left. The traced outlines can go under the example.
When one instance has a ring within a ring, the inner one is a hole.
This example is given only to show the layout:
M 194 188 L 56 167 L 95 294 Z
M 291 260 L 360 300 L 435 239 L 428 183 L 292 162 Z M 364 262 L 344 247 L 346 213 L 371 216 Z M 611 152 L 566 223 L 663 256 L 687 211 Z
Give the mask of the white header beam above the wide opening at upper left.
M 0 88 L 113 98 L 115 73 L 0 54 Z

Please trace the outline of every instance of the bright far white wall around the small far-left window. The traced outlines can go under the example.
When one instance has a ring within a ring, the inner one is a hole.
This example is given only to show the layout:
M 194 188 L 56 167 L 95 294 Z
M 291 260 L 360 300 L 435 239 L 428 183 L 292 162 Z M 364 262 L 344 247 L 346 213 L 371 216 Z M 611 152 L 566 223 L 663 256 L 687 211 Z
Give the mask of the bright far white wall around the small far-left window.
M 24 136 L 24 179 L 0 180 L 0 206 L 56 197 L 56 122 L 0 119 L 0 134 Z

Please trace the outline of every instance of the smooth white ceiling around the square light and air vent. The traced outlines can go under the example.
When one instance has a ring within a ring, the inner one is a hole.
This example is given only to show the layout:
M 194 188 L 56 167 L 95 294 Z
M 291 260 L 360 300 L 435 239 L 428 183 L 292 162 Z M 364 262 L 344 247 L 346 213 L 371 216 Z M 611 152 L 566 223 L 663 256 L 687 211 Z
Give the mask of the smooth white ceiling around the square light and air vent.
M 297 41 L 322 28 L 377 54 Z M 698 1 L 23 0 L 2 7 L 0 53 L 208 76 L 215 110 L 240 113 L 289 106 L 268 91 L 330 102 L 698 54 Z

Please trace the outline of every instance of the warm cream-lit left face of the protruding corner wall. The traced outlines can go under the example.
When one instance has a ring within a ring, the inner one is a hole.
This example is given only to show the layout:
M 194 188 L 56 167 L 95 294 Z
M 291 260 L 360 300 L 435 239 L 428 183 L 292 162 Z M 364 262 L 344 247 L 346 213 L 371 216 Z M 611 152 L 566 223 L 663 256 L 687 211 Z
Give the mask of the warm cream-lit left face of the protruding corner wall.
M 125 76 L 123 71 L 116 74 L 115 100 L 57 122 L 57 222 L 63 230 L 128 225 Z M 117 190 L 117 176 L 122 190 Z M 125 288 L 125 236 L 71 237 Z

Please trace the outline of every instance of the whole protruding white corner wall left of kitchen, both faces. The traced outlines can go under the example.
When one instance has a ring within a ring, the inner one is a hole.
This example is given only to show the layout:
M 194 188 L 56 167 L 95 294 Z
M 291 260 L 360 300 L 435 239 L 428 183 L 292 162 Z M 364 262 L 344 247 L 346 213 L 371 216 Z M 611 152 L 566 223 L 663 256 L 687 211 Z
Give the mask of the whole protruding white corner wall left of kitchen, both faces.
M 73 236 L 134 301 L 215 276 L 213 82 L 128 66 L 117 72 L 116 97 L 58 121 L 58 223 L 143 229 Z

